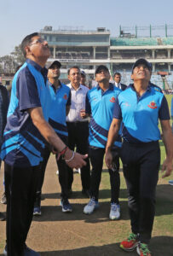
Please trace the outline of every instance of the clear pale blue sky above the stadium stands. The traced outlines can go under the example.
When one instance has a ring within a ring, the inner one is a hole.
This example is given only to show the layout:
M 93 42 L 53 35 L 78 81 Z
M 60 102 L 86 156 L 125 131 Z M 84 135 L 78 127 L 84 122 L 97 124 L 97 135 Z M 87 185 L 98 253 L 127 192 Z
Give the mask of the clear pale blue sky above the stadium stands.
M 44 26 L 96 30 L 118 36 L 121 26 L 173 25 L 173 0 L 0 0 L 0 56 Z M 173 30 L 171 31 L 173 35 Z

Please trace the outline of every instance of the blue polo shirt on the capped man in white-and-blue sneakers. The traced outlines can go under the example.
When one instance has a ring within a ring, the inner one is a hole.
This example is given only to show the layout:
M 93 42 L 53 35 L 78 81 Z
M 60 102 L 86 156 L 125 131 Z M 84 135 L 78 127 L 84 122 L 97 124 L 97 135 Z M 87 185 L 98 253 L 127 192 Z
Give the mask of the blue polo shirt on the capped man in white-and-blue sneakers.
M 86 113 L 91 114 L 89 122 L 89 145 L 97 148 L 105 148 L 107 135 L 112 123 L 113 109 L 120 89 L 109 84 L 106 91 L 97 85 L 88 91 L 86 96 Z M 114 143 L 121 147 L 121 138 Z

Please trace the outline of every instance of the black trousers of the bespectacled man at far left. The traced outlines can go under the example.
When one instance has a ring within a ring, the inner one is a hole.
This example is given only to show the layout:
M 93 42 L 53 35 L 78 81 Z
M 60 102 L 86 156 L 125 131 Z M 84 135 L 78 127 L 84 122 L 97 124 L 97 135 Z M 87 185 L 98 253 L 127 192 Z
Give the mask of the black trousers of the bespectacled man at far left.
M 23 256 L 26 236 L 32 223 L 40 166 L 4 165 L 7 197 L 8 256 Z

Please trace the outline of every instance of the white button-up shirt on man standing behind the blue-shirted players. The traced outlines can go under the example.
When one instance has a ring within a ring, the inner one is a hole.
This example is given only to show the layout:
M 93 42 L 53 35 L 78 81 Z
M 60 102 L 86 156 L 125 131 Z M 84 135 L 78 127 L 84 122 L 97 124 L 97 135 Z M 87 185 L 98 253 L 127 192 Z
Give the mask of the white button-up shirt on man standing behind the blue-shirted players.
M 87 119 L 82 119 L 80 116 L 80 110 L 85 109 L 85 99 L 86 94 L 89 91 L 89 88 L 80 84 L 78 90 L 74 90 L 72 84 L 66 84 L 71 90 L 71 108 L 66 116 L 66 122 L 84 122 L 88 121 Z

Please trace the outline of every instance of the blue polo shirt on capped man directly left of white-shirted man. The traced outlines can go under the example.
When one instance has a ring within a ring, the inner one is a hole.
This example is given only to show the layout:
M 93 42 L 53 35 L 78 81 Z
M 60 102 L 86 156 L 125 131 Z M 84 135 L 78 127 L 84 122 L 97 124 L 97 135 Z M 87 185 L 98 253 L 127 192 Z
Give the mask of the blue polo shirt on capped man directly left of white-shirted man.
M 61 86 L 56 90 L 54 84 L 49 84 L 51 96 L 51 108 L 49 112 L 49 124 L 54 128 L 55 132 L 61 140 L 67 142 L 66 128 L 66 106 L 71 105 L 71 91 L 68 86 L 61 83 Z

